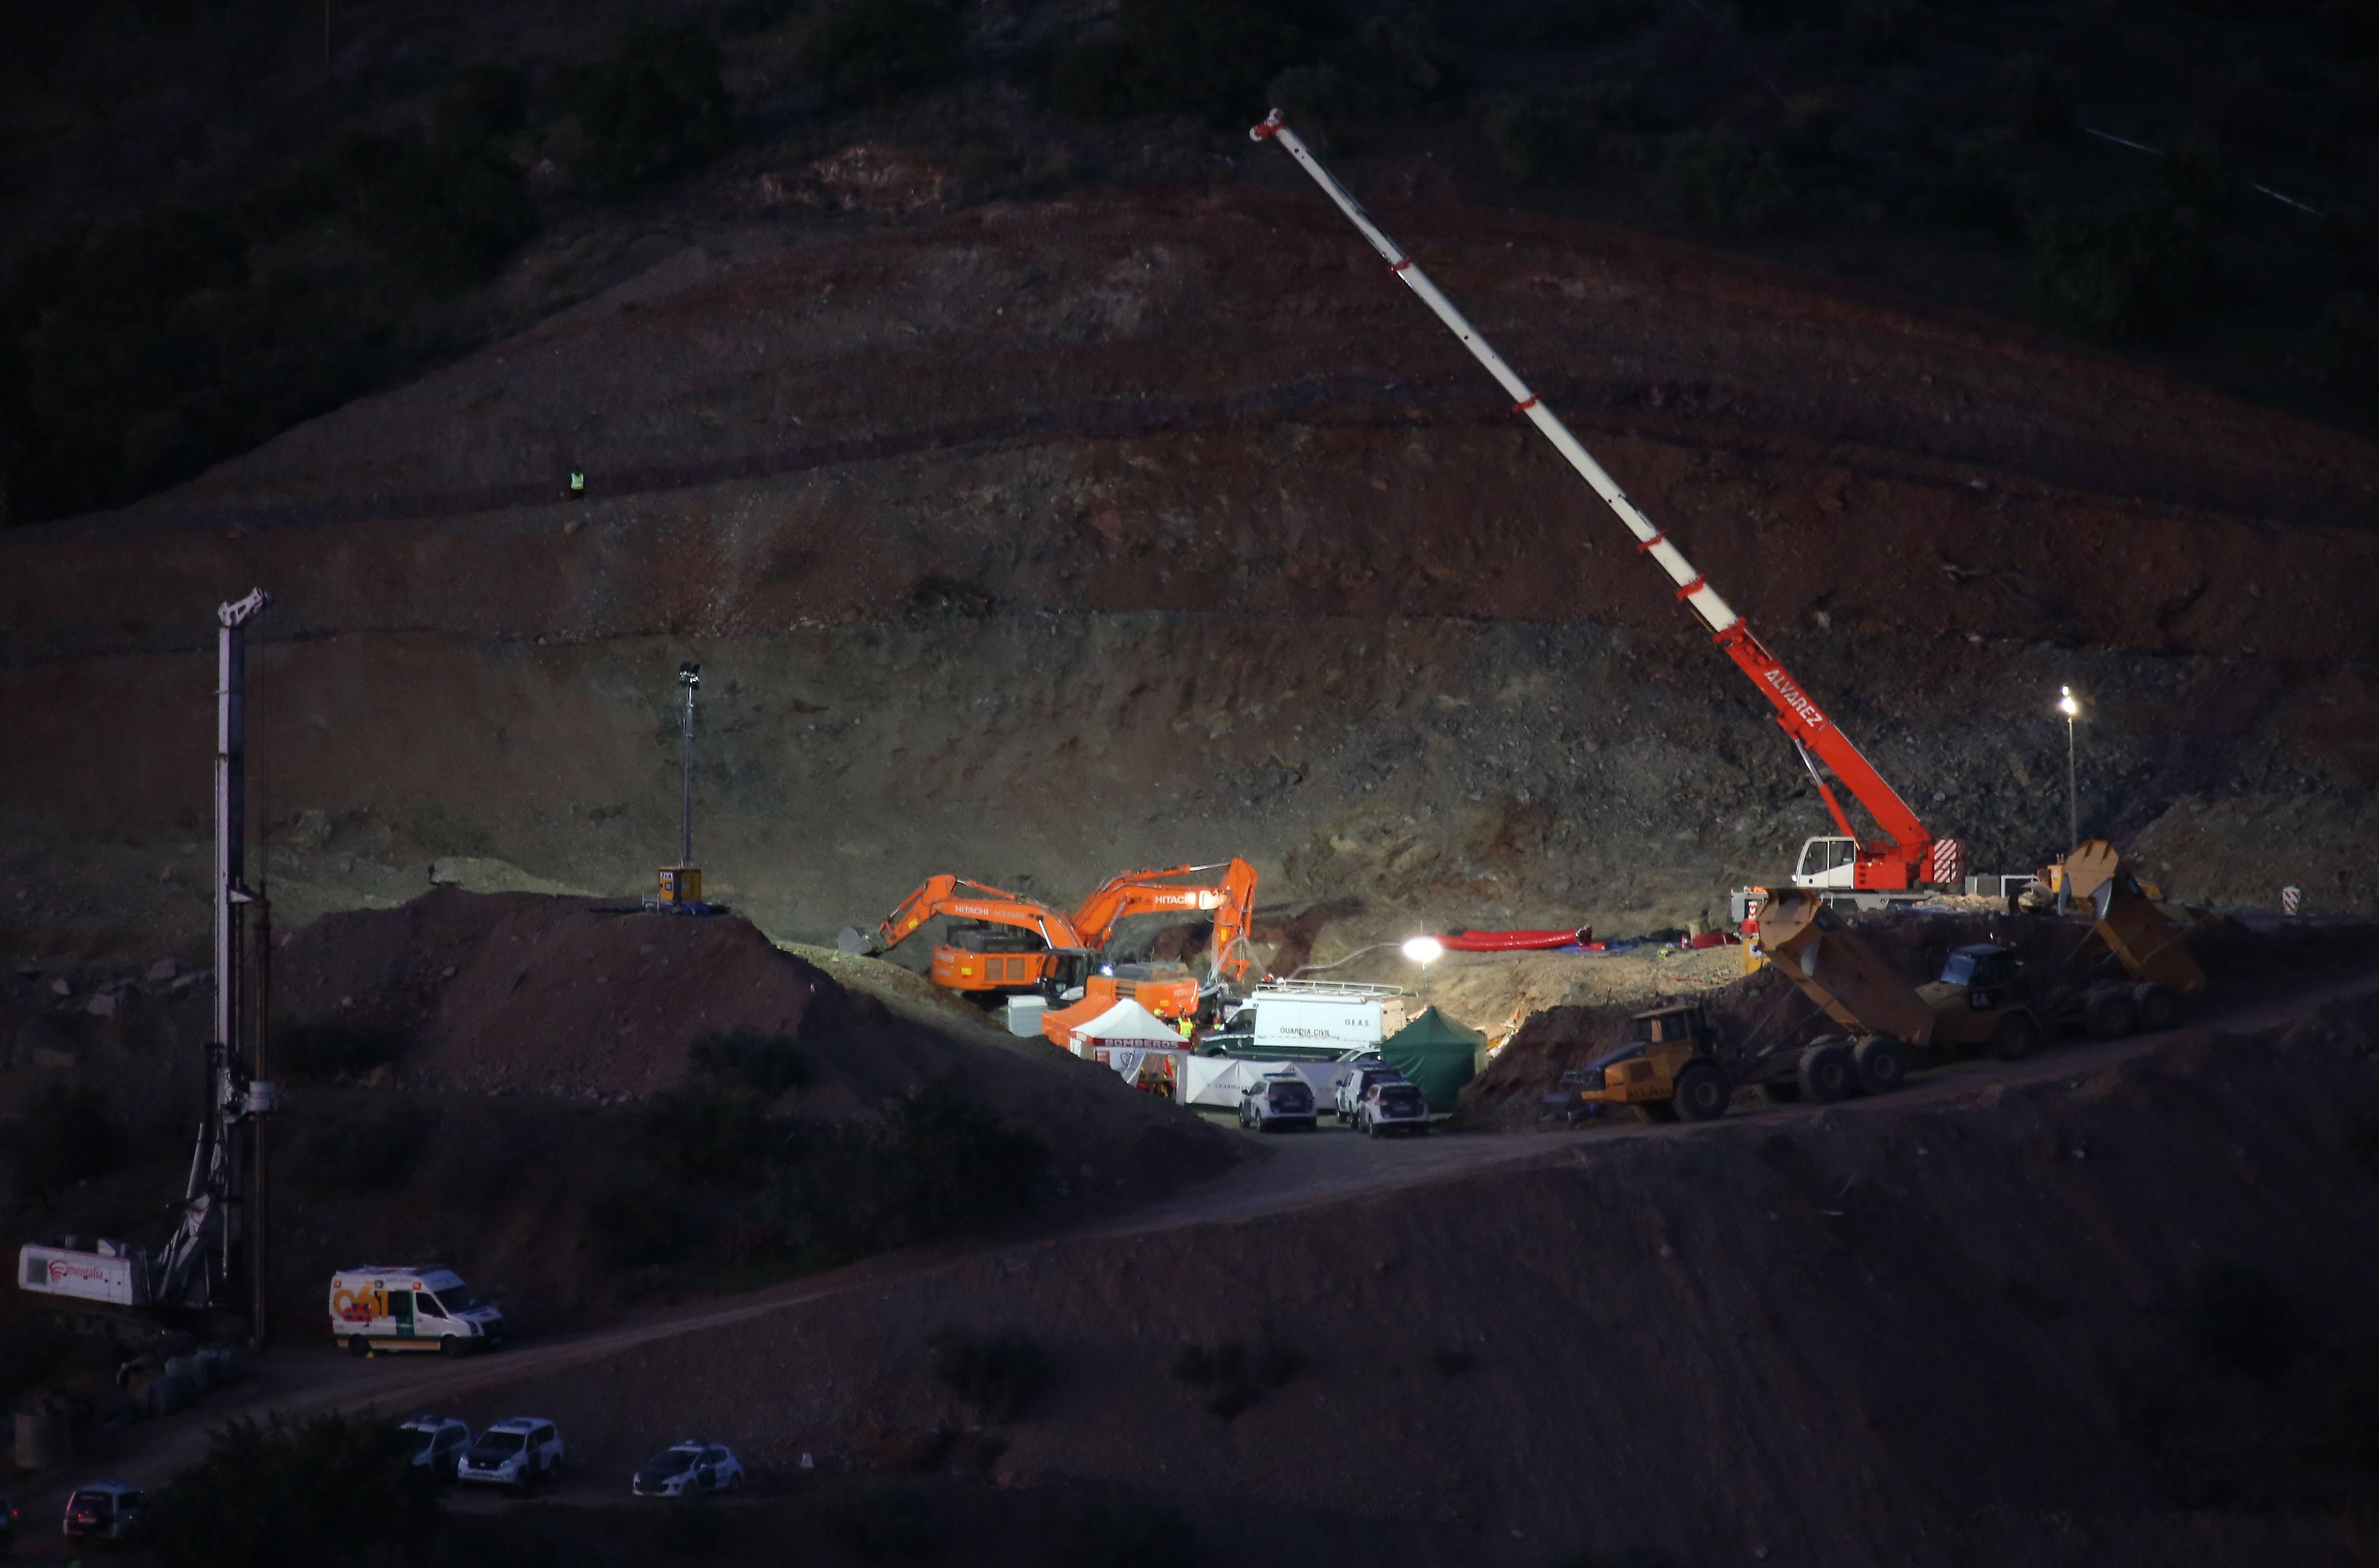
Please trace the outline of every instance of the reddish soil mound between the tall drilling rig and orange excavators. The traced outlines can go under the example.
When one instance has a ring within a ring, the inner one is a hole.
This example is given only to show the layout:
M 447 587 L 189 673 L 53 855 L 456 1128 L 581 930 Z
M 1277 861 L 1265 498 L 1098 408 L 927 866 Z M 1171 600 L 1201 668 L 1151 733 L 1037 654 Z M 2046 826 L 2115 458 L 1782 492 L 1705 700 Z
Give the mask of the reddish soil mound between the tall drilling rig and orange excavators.
M 754 1028 L 799 1040 L 811 1116 L 871 1116 L 949 1078 L 1042 1130 L 1066 1168 L 1130 1171 L 1144 1187 L 1228 1159 L 1209 1128 L 1104 1068 L 1040 1040 L 899 1018 L 740 918 L 440 888 L 402 909 L 324 916 L 276 964 L 283 1021 L 395 1035 L 412 1087 L 649 1095 L 685 1075 L 704 1033 Z

